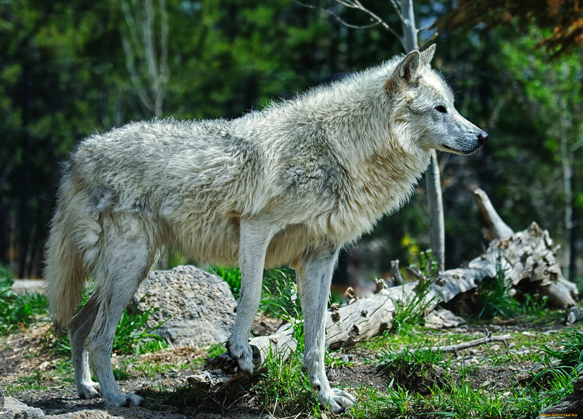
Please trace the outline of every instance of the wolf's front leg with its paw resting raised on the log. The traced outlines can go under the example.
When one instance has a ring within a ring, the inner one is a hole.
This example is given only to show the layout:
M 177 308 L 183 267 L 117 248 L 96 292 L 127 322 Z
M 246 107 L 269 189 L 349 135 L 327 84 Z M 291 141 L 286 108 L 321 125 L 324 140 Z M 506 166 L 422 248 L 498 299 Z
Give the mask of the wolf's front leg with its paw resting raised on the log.
M 233 334 L 226 346 L 230 357 L 237 362 L 241 371 L 251 376 L 259 366 L 261 355 L 259 351 L 253 353 L 248 337 L 261 300 L 265 252 L 278 228 L 265 220 L 241 220 L 240 231 L 241 296 L 237 301 Z

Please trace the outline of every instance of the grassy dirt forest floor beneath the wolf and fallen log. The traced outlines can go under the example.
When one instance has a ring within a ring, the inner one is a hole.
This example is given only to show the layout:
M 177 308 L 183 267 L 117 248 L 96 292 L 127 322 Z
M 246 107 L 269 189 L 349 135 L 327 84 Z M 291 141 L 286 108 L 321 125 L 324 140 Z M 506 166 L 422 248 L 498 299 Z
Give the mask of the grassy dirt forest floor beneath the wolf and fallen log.
M 563 318 L 564 311 L 551 311 L 544 318 L 523 316 L 510 321 L 473 323 L 454 330 L 416 326 L 400 336 L 387 333 L 358 342 L 352 348 L 329 352 L 326 370 L 333 386 L 342 386 L 357 396 L 356 406 L 343 415 L 346 417 L 402 417 L 423 412 L 424 417 L 442 417 L 443 414 L 494 417 L 504 406 L 507 410 L 510 405 L 516 407 L 512 401 L 519 399 L 518 394 L 529 396 L 525 389 L 539 389 L 549 395 L 549 388 L 533 383 L 533 378 L 544 374 L 550 364 L 557 364 L 549 360 L 543 346 L 552 350 L 563 348 L 561 332 L 571 330 L 564 329 Z M 572 328 L 581 329 L 578 325 Z M 403 348 L 412 354 L 420 353 L 421 346 L 477 339 L 484 336 L 486 329 L 494 335 L 509 333 L 508 347 L 490 343 L 417 361 L 402 360 L 394 353 Z M 203 366 L 205 357 L 222 353 L 222 345 L 171 347 L 137 357 L 114 356 L 114 375 L 120 390 L 138 393 L 145 403 L 139 409 L 104 410 L 101 399 L 80 400 L 76 396 L 70 358 L 50 349 L 50 323 L 38 323 L 1 339 L 0 379 L 6 395 L 63 419 L 89 418 L 88 409 L 101 409 L 101 413 L 93 413 L 96 418 L 120 414 L 146 418 L 149 413 L 143 409 L 154 416 L 180 414 L 198 419 L 248 415 L 255 418 L 335 417 L 331 413 L 322 414 L 315 405 L 309 387 L 305 386 L 305 376 L 300 372 L 301 354 L 282 365 L 273 362 L 266 378 L 257 376 L 215 394 L 196 392 L 187 384 L 187 376 Z M 389 362 L 389 367 L 383 371 L 378 365 L 388 358 L 396 361 Z M 462 393 L 465 400 L 459 399 Z M 537 402 L 532 395 L 529 397 L 532 412 L 529 414 L 523 406 L 518 416 L 538 416 L 536 410 L 541 406 L 536 404 L 541 401 Z M 560 397 L 555 395 L 555 398 Z M 490 414 L 484 415 L 482 410 L 486 406 Z M 510 417 L 511 413 L 512 409 L 503 417 Z

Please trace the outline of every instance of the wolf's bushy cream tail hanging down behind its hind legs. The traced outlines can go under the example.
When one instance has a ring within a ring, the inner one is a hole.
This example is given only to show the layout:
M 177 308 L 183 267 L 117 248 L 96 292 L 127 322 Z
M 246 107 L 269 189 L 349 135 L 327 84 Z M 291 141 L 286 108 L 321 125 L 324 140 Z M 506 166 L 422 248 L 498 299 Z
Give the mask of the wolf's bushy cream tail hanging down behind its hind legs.
M 62 202 L 51 220 L 45 248 L 45 280 L 49 312 L 54 318 L 55 331 L 61 332 L 71 325 L 71 319 L 83 293 L 86 272 L 82 252 L 72 241 L 71 220 L 67 220 Z

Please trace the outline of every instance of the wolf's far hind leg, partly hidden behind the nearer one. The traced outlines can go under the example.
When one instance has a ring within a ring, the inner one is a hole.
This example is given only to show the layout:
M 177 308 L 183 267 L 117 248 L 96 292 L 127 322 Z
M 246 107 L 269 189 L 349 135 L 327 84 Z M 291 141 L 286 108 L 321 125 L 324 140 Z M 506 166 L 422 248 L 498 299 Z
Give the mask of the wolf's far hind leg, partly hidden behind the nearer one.
M 93 326 L 97 315 L 99 301 L 97 295 L 92 295 L 89 301 L 75 315 L 69 328 L 71 341 L 71 358 L 75 368 L 75 386 L 81 399 L 93 399 L 101 396 L 99 383 L 93 382 L 89 371 L 89 353 L 85 348 L 85 339 Z

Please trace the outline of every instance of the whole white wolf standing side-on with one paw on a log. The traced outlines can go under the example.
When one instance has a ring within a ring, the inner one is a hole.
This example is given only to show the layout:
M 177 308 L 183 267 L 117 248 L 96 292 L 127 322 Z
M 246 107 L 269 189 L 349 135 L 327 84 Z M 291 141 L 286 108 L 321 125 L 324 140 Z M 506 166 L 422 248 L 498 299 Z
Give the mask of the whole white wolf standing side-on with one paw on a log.
M 238 265 L 241 297 L 229 354 L 249 375 L 248 344 L 265 267 L 296 269 L 304 369 L 333 412 L 324 314 L 339 249 L 398 209 L 431 148 L 469 154 L 487 139 L 454 108 L 430 68 L 434 45 L 231 121 L 133 122 L 83 140 L 66 164 L 46 251 L 55 322 L 69 328 L 82 398 L 135 406 L 111 370 L 115 327 L 170 243 L 201 263 Z M 75 315 L 90 274 L 95 291 Z M 254 363 L 255 362 L 255 363 Z M 98 383 L 90 378 L 91 366 Z

